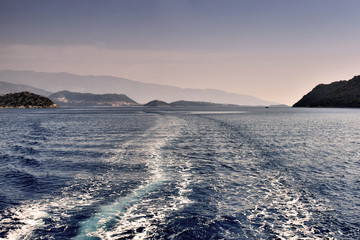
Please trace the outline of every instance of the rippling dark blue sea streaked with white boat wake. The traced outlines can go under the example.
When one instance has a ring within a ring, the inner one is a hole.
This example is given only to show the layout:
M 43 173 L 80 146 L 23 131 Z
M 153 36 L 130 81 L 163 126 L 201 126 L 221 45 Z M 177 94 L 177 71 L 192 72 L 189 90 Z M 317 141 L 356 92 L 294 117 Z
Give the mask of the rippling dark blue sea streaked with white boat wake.
M 360 111 L 0 110 L 1 239 L 360 239 Z

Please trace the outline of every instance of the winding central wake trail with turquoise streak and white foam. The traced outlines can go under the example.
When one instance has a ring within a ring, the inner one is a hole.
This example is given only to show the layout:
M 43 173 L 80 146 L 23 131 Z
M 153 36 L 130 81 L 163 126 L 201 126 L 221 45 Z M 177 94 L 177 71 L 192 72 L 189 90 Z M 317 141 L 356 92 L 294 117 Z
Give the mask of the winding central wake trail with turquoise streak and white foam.
M 164 149 L 178 136 L 180 124 L 183 123 L 178 118 L 162 117 L 144 136 L 126 144 L 137 149 L 132 159 L 142 158 L 148 178 L 131 193 L 102 206 L 98 213 L 82 222 L 74 239 L 148 238 L 158 225 L 164 224 L 170 212 L 190 202 L 184 196 L 188 191 L 187 175 L 169 172 L 173 164 L 182 163 L 174 163 Z M 127 151 L 126 146 L 121 150 L 122 154 Z

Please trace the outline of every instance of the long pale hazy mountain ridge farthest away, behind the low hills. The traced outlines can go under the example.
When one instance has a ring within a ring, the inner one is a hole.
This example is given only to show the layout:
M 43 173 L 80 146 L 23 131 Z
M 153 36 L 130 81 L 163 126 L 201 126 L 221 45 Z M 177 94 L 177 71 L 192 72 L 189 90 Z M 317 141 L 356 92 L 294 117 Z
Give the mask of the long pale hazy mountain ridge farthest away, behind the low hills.
M 0 70 L 0 81 L 28 85 L 52 93 L 68 90 L 95 94 L 126 94 L 139 103 L 161 99 L 166 102 L 187 100 L 249 106 L 277 104 L 253 96 L 228 93 L 221 90 L 183 89 L 111 76 L 80 76 L 69 73 Z M 49 95 L 47 94 L 47 96 Z

